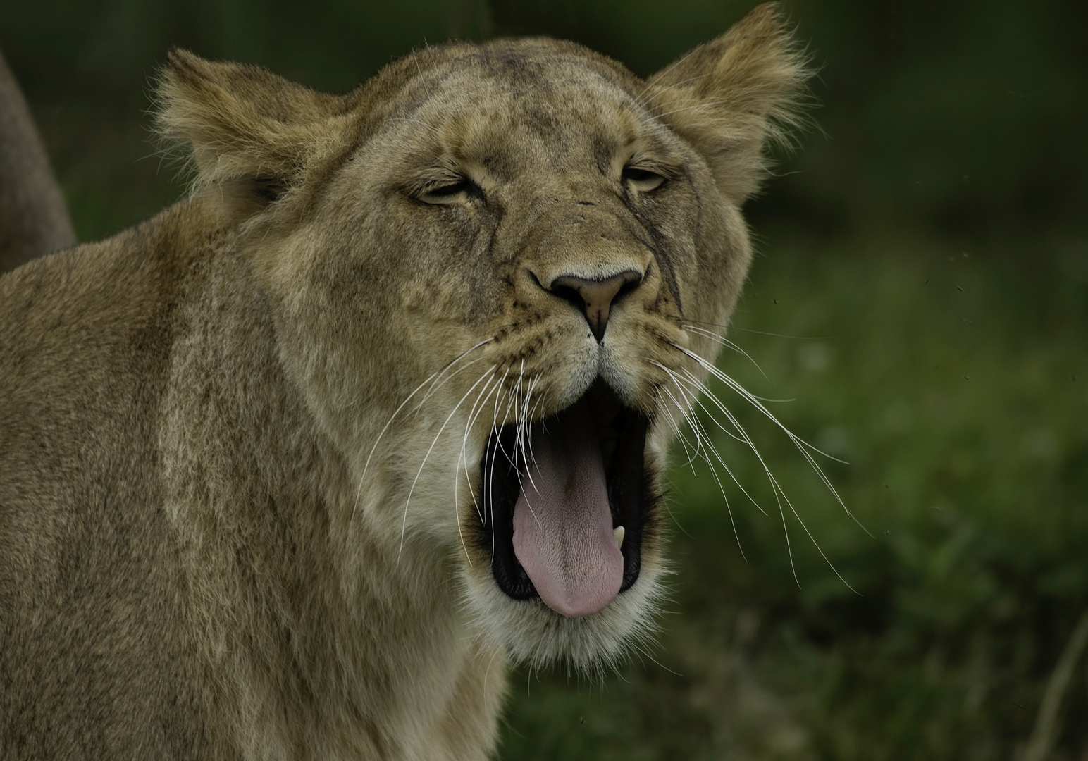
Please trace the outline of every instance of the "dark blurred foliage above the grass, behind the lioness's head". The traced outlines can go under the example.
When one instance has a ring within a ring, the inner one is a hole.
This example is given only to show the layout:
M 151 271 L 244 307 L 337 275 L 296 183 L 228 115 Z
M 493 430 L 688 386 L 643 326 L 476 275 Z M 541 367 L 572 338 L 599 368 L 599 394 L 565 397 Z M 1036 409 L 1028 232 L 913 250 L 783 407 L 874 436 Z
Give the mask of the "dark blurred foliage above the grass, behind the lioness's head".
M 171 46 L 351 88 L 449 36 L 552 34 L 647 75 L 753 3 L 714 0 L 41 0 L 8 3 L 0 46 L 39 114 L 76 226 L 100 237 L 177 195 L 145 142 Z M 820 131 L 802 136 L 756 220 L 837 235 L 951 236 L 1077 225 L 1088 197 L 1088 7 L 1072 0 L 784 4 L 813 51 Z M 96 196 L 110 188 L 110 201 Z M 118 196 L 113 191 L 122 194 Z

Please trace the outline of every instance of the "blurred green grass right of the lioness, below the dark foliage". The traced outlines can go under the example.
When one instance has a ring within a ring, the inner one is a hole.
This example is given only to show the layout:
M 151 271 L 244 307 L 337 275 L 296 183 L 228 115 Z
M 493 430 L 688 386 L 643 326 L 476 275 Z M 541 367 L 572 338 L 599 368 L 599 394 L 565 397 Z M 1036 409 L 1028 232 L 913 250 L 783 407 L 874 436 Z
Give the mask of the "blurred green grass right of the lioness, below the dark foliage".
M 1088 606 L 1086 282 L 1088 250 L 1060 240 L 769 248 L 734 324 L 812 337 L 733 330 L 769 380 L 739 354 L 719 367 L 796 398 L 770 406 L 850 462 L 821 466 L 868 533 L 766 418 L 712 388 L 857 593 L 788 514 L 791 564 L 749 451 L 714 437 L 768 513 L 722 475 L 734 535 L 680 446 L 660 650 L 603 685 L 516 674 L 503 758 L 1018 758 Z M 1080 660 L 1050 758 L 1088 753 L 1086 676 Z

